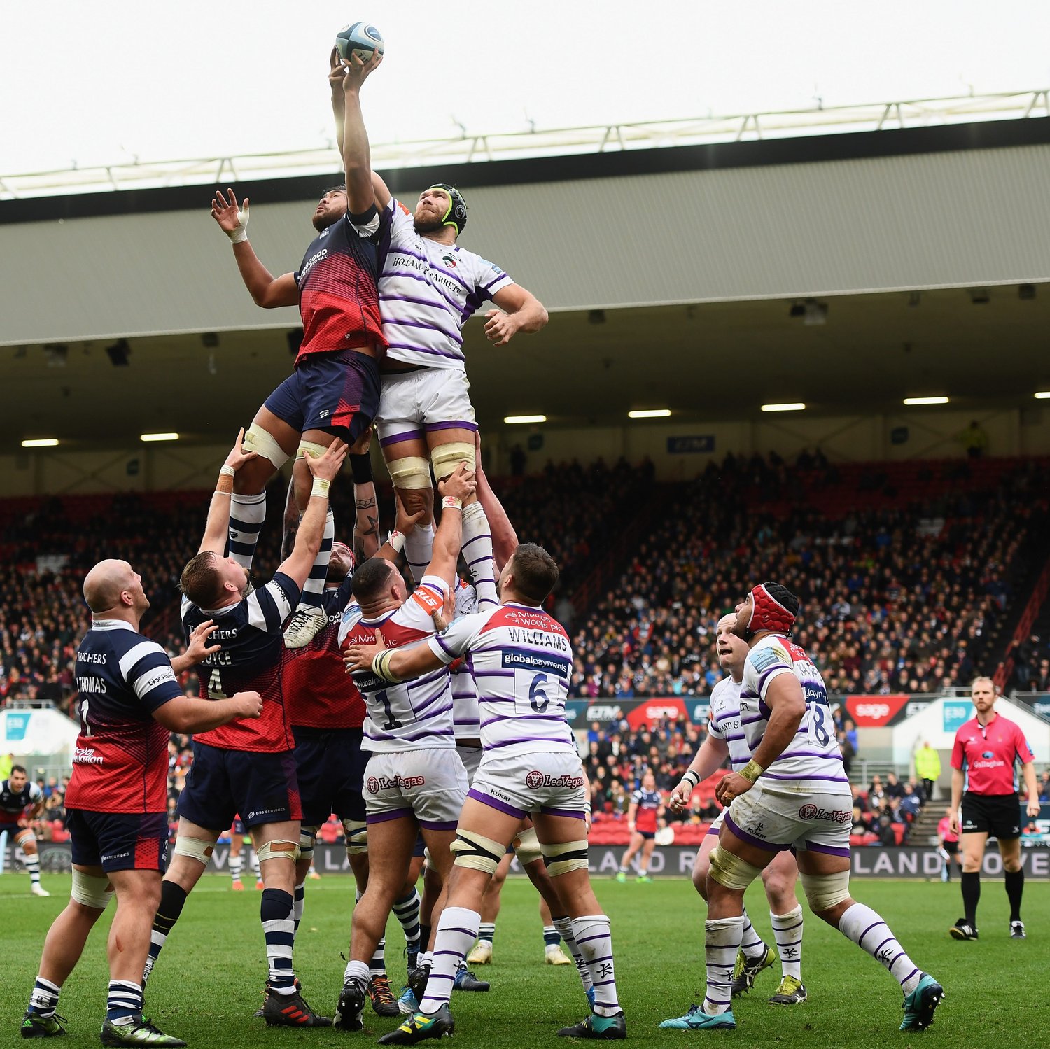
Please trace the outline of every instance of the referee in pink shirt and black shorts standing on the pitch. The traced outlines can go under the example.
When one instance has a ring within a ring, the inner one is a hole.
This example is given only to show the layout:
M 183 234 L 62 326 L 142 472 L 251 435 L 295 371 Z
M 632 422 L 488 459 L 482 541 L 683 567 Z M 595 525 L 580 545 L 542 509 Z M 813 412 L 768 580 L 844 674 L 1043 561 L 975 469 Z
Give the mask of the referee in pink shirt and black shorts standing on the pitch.
M 995 713 L 995 686 L 991 678 L 974 678 L 971 690 L 978 714 L 960 726 L 951 750 L 951 831 L 957 834 L 960 831 L 959 804 L 962 801 L 963 909 L 966 914 L 948 931 L 956 940 L 978 938 L 981 861 L 988 835 L 992 834 L 1003 857 L 1006 895 L 1010 900 L 1010 936 L 1024 940 L 1021 896 L 1025 873 L 1021 868 L 1021 799 L 1014 762 L 1021 762 L 1028 789 L 1028 815 L 1037 816 L 1035 757 L 1021 728 Z

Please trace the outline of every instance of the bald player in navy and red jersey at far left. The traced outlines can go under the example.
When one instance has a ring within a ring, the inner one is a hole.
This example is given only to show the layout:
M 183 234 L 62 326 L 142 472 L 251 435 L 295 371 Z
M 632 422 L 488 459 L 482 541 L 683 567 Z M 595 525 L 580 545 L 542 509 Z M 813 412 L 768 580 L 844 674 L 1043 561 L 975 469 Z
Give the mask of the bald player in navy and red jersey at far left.
M 72 893 L 47 933 L 22 1036 L 66 1033 L 56 1013 L 59 991 L 116 891 L 102 1044 L 185 1046 L 142 1017 L 147 930 L 168 852 L 169 733 L 258 717 L 262 704 L 253 691 L 218 702 L 183 695 L 175 675 L 218 651 L 208 644 L 214 625 L 202 623 L 186 654 L 169 659 L 156 642 L 139 633 L 149 599 L 142 576 L 126 561 L 97 564 L 84 579 L 84 600 L 91 629 L 77 649 L 80 735 L 65 797 Z

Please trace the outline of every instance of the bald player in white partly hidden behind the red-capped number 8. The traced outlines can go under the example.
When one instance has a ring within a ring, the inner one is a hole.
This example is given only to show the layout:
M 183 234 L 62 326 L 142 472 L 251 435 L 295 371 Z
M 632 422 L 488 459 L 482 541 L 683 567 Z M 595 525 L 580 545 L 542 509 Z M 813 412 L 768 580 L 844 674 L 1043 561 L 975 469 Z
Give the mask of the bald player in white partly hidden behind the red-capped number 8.
M 739 772 L 751 760 L 747 735 L 740 727 L 740 689 L 743 687 L 743 665 L 748 658 L 748 644 L 733 633 L 736 613 L 723 615 L 715 627 L 715 652 L 719 666 L 727 671 L 711 691 L 707 738 L 700 744 L 681 777 L 681 782 L 671 792 L 669 804 L 676 812 L 687 807 L 696 784 L 720 769 L 729 758 L 730 768 Z M 708 870 L 711 852 L 718 844 L 726 815 L 723 809 L 708 828 L 693 866 L 693 886 L 708 898 Z M 791 849 L 777 853 L 762 870 L 762 885 L 770 904 L 770 922 L 780 954 L 781 979 L 777 992 L 769 1000 L 771 1005 L 799 1005 L 806 1000 L 802 984 L 802 908 L 795 895 L 798 864 Z M 776 961 L 774 952 L 755 931 L 743 910 L 743 939 L 733 973 L 733 995 L 751 990 L 755 977 Z

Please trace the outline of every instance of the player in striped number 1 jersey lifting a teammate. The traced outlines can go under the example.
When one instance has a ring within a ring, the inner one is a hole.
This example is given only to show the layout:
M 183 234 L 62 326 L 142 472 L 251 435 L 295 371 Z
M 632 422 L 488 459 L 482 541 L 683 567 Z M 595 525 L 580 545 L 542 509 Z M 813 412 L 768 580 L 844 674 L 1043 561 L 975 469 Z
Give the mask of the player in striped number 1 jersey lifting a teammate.
M 361 616 L 340 630 L 340 645 L 353 652 L 378 643 L 390 651 L 414 651 L 434 636 L 434 612 L 444 607 L 456 580 L 464 500 L 475 498 L 474 474 L 466 464 L 441 485 L 443 509 L 434 539 L 434 554 L 419 587 L 406 595 L 404 580 L 390 561 L 372 558 L 354 573 L 354 597 Z M 350 961 L 335 1014 L 344 1030 L 362 1028 L 369 960 L 386 928 L 386 918 L 405 885 L 417 834 L 423 840 L 442 882 L 452 867 L 467 782 L 456 753 L 453 697 L 448 669 L 439 665 L 415 680 L 391 681 L 371 668 L 354 669 L 368 707 L 362 748 L 372 751 L 364 770 L 369 828 L 369 883 L 354 908 Z M 435 905 L 435 917 L 440 901 Z M 425 944 L 420 964 L 425 956 Z

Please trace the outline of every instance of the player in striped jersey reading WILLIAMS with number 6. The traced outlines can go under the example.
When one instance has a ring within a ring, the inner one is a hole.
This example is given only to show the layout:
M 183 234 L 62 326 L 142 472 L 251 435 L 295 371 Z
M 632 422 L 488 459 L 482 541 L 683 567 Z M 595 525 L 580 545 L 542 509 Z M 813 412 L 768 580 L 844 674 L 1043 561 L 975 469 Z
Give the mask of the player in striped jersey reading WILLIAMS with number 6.
M 558 566 L 542 547 L 519 546 L 500 573 L 501 606 L 454 623 L 410 651 L 359 645 L 351 666 L 390 681 L 433 673 L 462 656 L 478 683 L 484 757 L 460 816 L 448 897 L 438 922 L 433 967 L 420 1009 L 384 1045 L 411 1045 L 452 1033 L 448 999 L 460 959 L 478 933 L 478 908 L 521 820 L 531 816 L 543 858 L 572 922 L 594 985 L 586 1020 L 564 1027 L 571 1037 L 622 1038 L 627 1027 L 616 1000 L 609 919 L 598 908 L 587 867 L 583 763 L 565 720 L 572 648 L 564 628 L 543 610 Z

